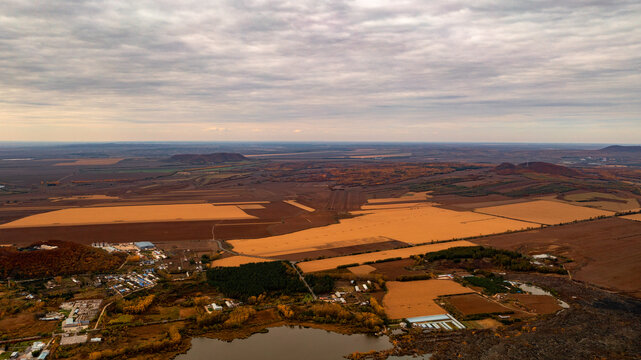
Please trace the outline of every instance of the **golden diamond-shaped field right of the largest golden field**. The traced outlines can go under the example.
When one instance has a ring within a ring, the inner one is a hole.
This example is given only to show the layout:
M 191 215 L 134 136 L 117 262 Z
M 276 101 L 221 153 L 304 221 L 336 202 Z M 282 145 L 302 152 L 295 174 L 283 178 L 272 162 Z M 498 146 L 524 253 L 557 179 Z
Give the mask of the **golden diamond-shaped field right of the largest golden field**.
M 490 206 L 475 210 L 480 214 L 503 216 L 537 224 L 555 225 L 575 220 L 614 215 L 611 211 L 574 206 L 559 201 L 538 200 L 518 204 Z

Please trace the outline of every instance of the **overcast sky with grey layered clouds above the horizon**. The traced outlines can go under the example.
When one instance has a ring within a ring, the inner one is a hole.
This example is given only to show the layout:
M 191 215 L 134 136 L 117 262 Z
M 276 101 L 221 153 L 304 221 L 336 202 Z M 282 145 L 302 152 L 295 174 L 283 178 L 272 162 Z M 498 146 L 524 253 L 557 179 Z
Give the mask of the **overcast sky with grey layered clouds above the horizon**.
M 639 139 L 638 0 L 0 1 L 0 141 Z

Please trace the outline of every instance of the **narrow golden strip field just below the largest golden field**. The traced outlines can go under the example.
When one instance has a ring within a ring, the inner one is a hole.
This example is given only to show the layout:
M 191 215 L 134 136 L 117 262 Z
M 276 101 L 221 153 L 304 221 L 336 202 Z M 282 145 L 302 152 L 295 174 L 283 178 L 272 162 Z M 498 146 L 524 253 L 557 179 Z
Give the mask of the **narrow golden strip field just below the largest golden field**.
M 412 247 L 407 247 L 402 249 L 377 251 L 377 252 L 367 253 L 367 254 L 339 256 L 334 258 L 305 261 L 305 262 L 298 263 L 298 267 L 300 267 L 300 269 L 306 273 L 314 272 L 314 271 L 330 270 L 330 269 L 335 269 L 340 265 L 362 264 L 367 261 L 384 260 L 384 259 L 391 259 L 395 257 L 407 258 L 412 255 L 426 254 L 434 251 L 441 251 L 441 250 L 449 249 L 451 247 L 456 247 L 456 246 L 476 246 L 476 244 L 471 243 L 469 241 L 465 241 L 465 240 L 449 241 L 444 243 L 412 246 Z

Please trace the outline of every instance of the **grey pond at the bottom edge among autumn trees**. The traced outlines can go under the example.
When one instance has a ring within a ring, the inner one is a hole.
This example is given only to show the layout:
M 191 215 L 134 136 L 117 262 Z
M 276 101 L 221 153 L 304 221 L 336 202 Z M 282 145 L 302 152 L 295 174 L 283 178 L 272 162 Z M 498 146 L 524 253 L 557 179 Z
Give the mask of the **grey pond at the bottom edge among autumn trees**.
M 191 349 L 186 354 L 178 355 L 175 360 L 344 360 L 345 355 L 355 351 L 391 347 L 386 336 L 343 335 L 320 329 L 282 326 L 232 342 L 194 338 L 191 340 Z

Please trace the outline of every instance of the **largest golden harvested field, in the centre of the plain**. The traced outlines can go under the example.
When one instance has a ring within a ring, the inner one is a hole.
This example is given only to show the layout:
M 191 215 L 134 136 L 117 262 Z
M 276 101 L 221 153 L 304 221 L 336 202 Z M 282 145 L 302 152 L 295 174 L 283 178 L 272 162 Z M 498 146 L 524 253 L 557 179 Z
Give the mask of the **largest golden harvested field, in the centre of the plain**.
M 429 205 L 356 211 L 361 215 L 319 228 L 258 239 L 231 240 L 243 254 L 278 256 L 397 240 L 408 244 L 451 240 L 524 229 L 531 224 Z

